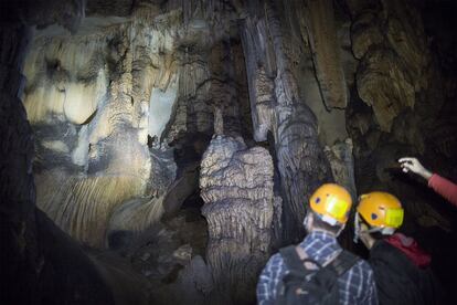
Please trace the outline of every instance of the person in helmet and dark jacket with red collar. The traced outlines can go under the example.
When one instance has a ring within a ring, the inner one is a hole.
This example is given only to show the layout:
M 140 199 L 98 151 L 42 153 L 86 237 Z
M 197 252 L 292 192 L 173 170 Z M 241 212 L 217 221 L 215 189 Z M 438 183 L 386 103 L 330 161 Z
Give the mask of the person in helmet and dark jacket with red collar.
M 438 304 L 437 285 L 429 271 L 431 256 L 417 242 L 396 230 L 404 210 L 387 192 L 374 191 L 359 198 L 354 218 L 354 242 L 370 251 L 380 304 Z

